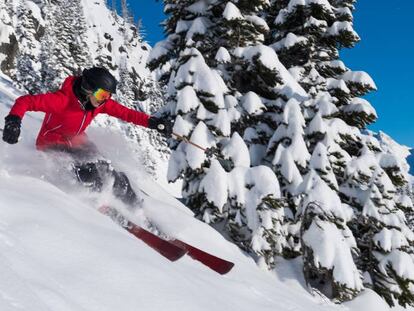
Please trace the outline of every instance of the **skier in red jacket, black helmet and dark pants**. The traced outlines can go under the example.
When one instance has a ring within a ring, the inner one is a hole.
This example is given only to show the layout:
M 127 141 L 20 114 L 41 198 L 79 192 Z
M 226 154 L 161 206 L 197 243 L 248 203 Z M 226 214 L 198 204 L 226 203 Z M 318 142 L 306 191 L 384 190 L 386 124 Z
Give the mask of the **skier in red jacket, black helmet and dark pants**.
M 112 100 L 116 84 L 108 70 L 93 67 L 85 69 L 81 76 L 66 78 L 61 89 L 56 92 L 21 96 L 5 118 L 3 140 L 9 144 L 18 142 L 21 121 L 27 111 L 45 112 L 36 140 L 37 149 L 70 154 L 74 159 L 73 170 L 78 181 L 94 191 L 102 190 L 103 183 L 112 176 L 114 195 L 129 206 L 134 206 L 137 195 L 127 176 L 115 171 L 109 161 L 96 160 L 99 152 L 85 130 L 100 113 L 155 129 L 166 137 L 171 136 L 172 124 L 167 119 L 149 116 Z

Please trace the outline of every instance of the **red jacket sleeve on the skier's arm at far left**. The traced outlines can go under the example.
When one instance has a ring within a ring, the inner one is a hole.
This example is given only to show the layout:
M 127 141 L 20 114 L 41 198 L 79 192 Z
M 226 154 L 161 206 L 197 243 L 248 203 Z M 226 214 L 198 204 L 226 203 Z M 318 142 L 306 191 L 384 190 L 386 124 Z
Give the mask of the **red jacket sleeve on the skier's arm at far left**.
M 10 114 L 23 118 L 26 111 L 56 113 L 62 111 L 68 101 L 62 91 L 40 95 L 24 95 L 16 99 Z

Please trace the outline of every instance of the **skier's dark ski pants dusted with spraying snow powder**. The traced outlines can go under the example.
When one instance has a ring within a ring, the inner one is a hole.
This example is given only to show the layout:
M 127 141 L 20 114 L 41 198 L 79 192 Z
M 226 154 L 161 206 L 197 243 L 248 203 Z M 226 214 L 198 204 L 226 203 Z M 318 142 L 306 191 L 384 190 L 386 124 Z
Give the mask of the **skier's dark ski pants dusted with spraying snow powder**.
M 102 159 L 96 146 L 89 143 L 82 148 L 55 147 L 51 150 L 62 151 L 73 159 L 73 172 L 78 182 L 95 192 L 101 192 L 104 185 L 113 180 L 112 192 L 128 206 L 135 206 L 138 197 L 131 187 L 128 177 L 116 171 L 110 161 Z

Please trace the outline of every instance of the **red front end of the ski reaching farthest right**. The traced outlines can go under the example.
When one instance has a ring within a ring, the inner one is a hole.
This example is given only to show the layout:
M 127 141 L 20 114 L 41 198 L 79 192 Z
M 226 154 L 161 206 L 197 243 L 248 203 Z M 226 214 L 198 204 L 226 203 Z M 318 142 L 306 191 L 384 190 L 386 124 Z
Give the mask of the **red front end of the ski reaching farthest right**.
M 171 243 L 177 245 L 187 251 L 187 255 L 197 260 L 210 269 L 216 271 L 219 274 L 226 274 L 228 273 L 233 267 L 234 263 L 227 261 L 225 259 L 219 258 L 212 254 L 209 254 L 197 247 L 191 246 L 183 241 L 180 240 L 170 240 Z

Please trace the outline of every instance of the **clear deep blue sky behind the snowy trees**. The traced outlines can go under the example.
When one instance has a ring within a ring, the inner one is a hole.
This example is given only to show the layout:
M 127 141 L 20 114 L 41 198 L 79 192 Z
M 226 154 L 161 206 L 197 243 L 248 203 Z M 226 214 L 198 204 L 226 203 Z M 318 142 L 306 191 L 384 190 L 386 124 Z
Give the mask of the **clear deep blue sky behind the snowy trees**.
M 155 0 L 131 0 L 130 9 L 141 17 L 146 40 L 153 45 L 163 38 L 159 25 L 163 6 Z M 341 51 L 352 70 L 371 75 L 378 91 L 366 97 L 378 113 L 370 126 L 399 143 L 414 147 L 414 1 L 358 0 L 354 28 L 361 37 L 356 47 Z

